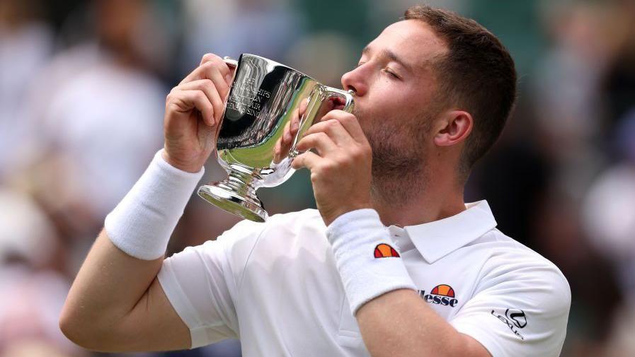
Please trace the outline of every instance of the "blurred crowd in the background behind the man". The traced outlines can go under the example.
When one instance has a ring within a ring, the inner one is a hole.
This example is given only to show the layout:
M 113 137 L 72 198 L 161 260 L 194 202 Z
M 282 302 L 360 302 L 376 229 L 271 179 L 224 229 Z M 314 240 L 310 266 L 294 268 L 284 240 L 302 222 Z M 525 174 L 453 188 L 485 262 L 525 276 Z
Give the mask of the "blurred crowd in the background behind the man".
M 0 357 L 97 355 L 57 318 L 103 218 L 162 146 L 165 96 L 206 52 L 278 60 L 330 86 L 416 1 L 0 0 Z M 469 180 L 498 228 L 564 272 L 563 356 L 635 356 L 635 1 L 428 1 L 498 35 L 515 114 Z M 224 177 L 216 163 L 205 180 Z M 261 189 L 314 206 L 306 171 Z M 194 197 L 169 247 L 237 218 Z M 143 356 L 240 356 L 239 341 Z

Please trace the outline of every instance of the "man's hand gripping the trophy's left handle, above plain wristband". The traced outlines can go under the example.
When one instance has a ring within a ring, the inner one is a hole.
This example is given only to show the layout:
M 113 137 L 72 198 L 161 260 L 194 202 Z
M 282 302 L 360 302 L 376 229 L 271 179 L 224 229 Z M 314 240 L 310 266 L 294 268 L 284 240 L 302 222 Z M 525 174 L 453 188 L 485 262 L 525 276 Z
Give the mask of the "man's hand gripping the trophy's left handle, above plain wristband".
M 232 69 L 215 54 L 205 54 L 200 66 L 166 98 L 164 158 L 176 168 L 198 172 L 216 148 L 216 136 Z

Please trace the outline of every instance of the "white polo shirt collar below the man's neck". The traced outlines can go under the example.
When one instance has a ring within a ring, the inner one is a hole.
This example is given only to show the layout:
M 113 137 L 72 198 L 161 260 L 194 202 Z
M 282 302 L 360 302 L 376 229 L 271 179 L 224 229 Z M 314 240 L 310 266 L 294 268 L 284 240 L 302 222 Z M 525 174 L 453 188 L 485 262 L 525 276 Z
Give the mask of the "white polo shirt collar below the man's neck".
M 465 211 L 454 216 L 404 228 L 426 262 L 433 264 L 496 227 L 487 201 L 469 203 L 465 207 Z

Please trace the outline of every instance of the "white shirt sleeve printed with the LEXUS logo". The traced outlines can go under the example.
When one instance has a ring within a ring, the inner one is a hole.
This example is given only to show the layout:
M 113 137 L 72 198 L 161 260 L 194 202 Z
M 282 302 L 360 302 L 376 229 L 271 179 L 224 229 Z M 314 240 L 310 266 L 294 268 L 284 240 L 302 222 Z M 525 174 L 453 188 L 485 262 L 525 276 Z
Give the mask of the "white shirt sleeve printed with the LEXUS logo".
M 484 270 L 479 291 L 450 324 L 493 357 L 559 356 L 571 306 L 571 290 L 559 269 L 534 258 Z

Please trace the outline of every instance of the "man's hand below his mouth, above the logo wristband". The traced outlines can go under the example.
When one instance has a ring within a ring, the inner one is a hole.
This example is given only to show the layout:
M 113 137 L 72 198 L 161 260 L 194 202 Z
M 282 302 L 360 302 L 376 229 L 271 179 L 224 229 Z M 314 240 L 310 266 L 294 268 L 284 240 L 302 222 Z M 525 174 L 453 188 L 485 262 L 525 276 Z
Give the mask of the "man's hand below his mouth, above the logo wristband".
M 311 170 L 317 208 L 326 226 L 343 213 L 371 207 L 372 151 L 355 115 L 328 112 L 307 130 L 297 150 L 307 152 L 294 158 L 292 168 Z

